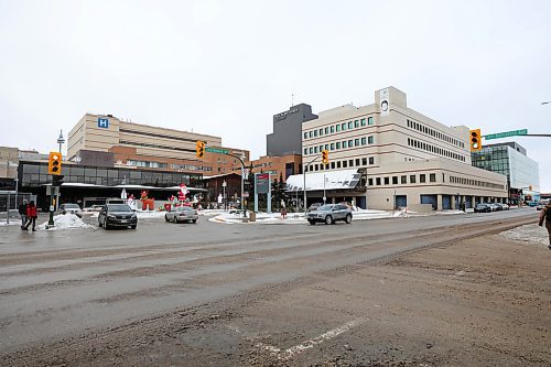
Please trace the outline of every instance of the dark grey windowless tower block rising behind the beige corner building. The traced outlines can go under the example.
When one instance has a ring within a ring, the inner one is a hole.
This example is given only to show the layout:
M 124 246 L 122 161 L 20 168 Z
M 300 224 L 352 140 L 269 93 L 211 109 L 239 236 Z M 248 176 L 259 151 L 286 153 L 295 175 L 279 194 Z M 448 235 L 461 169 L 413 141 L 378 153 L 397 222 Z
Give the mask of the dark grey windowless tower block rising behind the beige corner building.
M 300 104 L 273 115 L 273 132 L 266 137 L 266 155 L 301 154 L 302 123 L 317 118 L 312 106 Z

